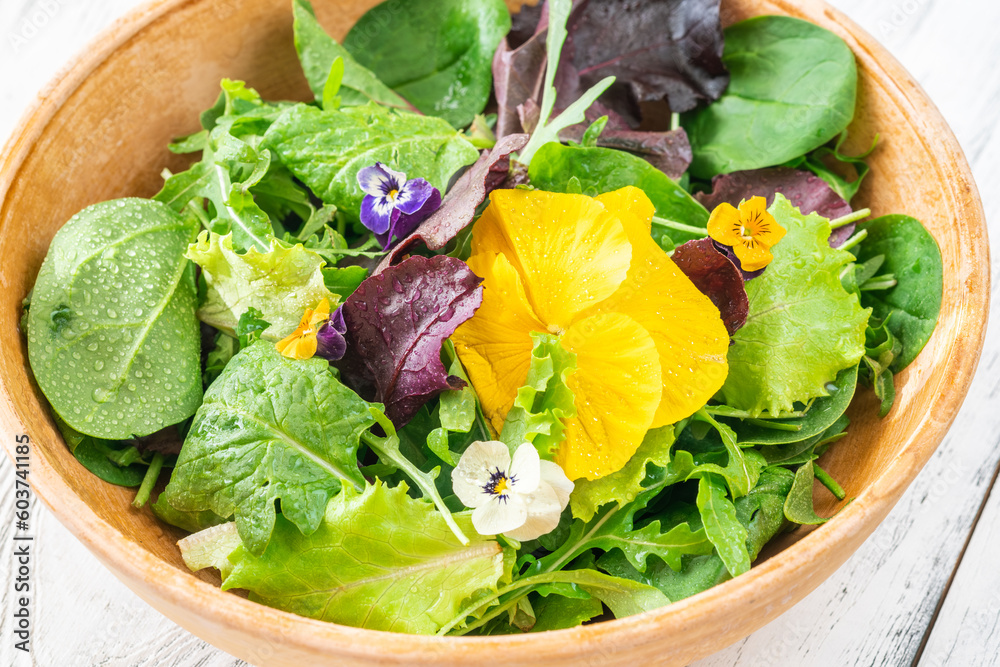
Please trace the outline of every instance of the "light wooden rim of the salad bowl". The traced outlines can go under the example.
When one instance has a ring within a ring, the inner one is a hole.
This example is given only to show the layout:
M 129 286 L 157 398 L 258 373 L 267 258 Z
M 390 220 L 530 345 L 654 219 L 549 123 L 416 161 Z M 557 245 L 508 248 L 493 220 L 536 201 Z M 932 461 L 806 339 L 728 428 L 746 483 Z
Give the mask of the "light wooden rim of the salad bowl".
M 116 50 L 136 38 L 144 29 L 163 16 L 186 4 L 201 0 L 153 0 L 131 10 L 90 42 L 37 96 L 27 108 L 13 133 L 0 152 L 0 207 L 7 200 L 11 185 L 32 152 L 36 141 L 69 97 Z M 46 457 L 32 448 L 30 481 L 35 494 L 52 510 L 59 521 L 83 542 L 101 562 L 133 590 L 137 582 L 152 590 L 156 597 L 169 604 L 193 612 L 203 621 L 221 624 L 238 632 L 255 634 L 272 645 L 294 645 L 313 650 L 330 650 L 336 647 L 355 657 L 371 657 L 373 650 L 379 654 L 392 654 L 396 659 L 445 657 L 452 651 L 474 648 L 476 651 L 504 650 L 505 660 L 539 659 L 543 654 L 568 657 L 579 651 L 585 642 L 593 649 L 604 642 L 633 645 L 645 644 L 657 632 L 668 627 L 693 628 L 711 620 L 711 610 L 725 606 L 753 604 L 764 590 L 772 590 L 788 576 L 801 576 L 805 564 L 830 553 L 823 548 L 831 541 L 847 542 L 854 547 L 834 563 L 839 567 L 860 546 L 880 521 L 892 509 L 917 472 L 937 448 L 951 426 L 958 409 L 968 393 L 975 374 L 985 338 L 989 308 L 989 247 L 986 236 L 985 216 L 971 170 L 953 132 L 937 108 L 930 102 L 922 88 L 873 37 L 822 0 L 769 0 L 771 5 L 793 15 L 822 16 L 827 24 L 835 24 L 838 34 L 851 47 L 857 60 L 877 64 L 891 83 L 885 93 L 900 107 L 919 108 L 915 114 L 921 118 L 928 136 L 933 131 L 934 151 L 955 167 L 958 178 L 949 182 L 948 189 L 956 203 L 955 224 L 965 229 L 968 243 L 963 248 L 962 263 L 956 271 L 967 286 L 966 308 L 956 322 L 962 335 L 948 347 L 945 375 L 952 390 L 938 393 L 928 406 L 925 415 L 902 443 L 898 454 L 886 464 L 885 469 L 857 498 L 834 518 L 780 554 L 770 558 L 739 577 L 726 581 L 698 595 L 674 602 L 666 607 L 623 619 L 578 626 L 539 634 L 505 635 L 501 637 L 437 637 L 408 635 L 367 630 L 317 621 L 266 607 L 237 595 L 221 591 L 192 573 L 183 571 L 160 560 L 138 543 L 127 539 L 109 523 L 101 519 L 76 494 L 68 490 L 65 482 L 55 472 Z M 815 20 L 812 18 L 811 20 Z M 908 119 L 915 124 L 913 118 Z M 3 384 L 0 389 L 0 423 L 8 436 L 24 433 L 10 398 L 10 389 Z M 945 418 L 941 419 L 941 415 Z M 30 434 L 29 434 L 30 435 Z M 13 460 L 12 437 L 4 441 L 4 448 Z M 875 520 L 872 523 L 873 519 Z M 112 567 L 111 563 L 114 563 Z M 809 580 L 796 594 L 797 602 L 822 581 L 823 577 Z M 155 584 L 150 582 L 155 581 Z M 136 590 L 142 597 L 142 592 Z M 248 607 L 252 605 L 252 607 Z M 779 609 L 758 610 L 763 626 L 783 613 L 791 605 Z M 680 627 L 675 621 L 681 621 Z M 550 640 L 554 634 L 563 641 L 553 649 Z M 211 640 L 209 640 L 211 641 Z M 542 653 L 539 649 L 547 649 Z M 720 650 L 710 646 L 705 655 Z M 345 656 L 346 657 L 346 656 Z

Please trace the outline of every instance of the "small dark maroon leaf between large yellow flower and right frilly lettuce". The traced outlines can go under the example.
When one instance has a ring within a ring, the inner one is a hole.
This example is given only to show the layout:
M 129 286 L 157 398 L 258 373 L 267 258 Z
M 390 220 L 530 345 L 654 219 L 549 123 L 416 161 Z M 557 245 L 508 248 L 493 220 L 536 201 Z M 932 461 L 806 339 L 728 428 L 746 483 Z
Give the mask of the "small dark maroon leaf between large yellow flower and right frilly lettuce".
M 719 309 L 729 335 L 739 331 L 750 307 L 743 276 L 712 239 L 688 241 L 674 250 L 671 259 Z

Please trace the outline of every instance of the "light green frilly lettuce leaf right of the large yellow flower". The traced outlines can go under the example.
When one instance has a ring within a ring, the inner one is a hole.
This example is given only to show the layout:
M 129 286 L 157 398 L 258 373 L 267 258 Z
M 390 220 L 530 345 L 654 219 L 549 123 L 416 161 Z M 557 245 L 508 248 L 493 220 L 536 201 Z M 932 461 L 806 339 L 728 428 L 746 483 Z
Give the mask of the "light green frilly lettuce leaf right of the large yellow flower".
M 854 256 L 830 247 L 829 221 L 802 215 L 780 194 L 769 210 L 788 233 L 746 284 L 750 314 L 733 336 L 721 390 L 727 405 L 752 416 L 827 396 L 826 384 L 864 355 L 871 313 L 840 282 Z

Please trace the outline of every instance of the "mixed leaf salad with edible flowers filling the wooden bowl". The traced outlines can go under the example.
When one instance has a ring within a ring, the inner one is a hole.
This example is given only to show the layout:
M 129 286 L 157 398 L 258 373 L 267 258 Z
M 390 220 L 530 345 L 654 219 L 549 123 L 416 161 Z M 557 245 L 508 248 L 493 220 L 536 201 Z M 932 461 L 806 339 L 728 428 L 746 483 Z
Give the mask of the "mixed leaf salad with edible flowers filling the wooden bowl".
M 313 99 L 223 80 L 191 167 L 74 216 L 25 299 L 66 444 L 192 570 L 340 624 L 539 632 L 849 500 L 817 461 L 857 392 L 891 411 L 942 266 L 851 205 L 877 137 L 844 149 L 840 38 L 719 0 L 391 0 L 342 43 L 292 11 Z

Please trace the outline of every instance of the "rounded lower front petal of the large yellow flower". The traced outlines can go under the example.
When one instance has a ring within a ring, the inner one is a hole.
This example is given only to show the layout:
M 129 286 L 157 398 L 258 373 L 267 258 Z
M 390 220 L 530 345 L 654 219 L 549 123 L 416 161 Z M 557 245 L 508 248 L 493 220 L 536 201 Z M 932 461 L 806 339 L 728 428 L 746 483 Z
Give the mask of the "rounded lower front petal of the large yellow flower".
M 556 463 L 573 480 L 620 470 L 642 443 L 660 402 L 660 363 L 653 338 L 635 320 L 607 314 L 585 318 L 563 335 L 576 354 L 567 379 L 577 416 L 566 422 Z

